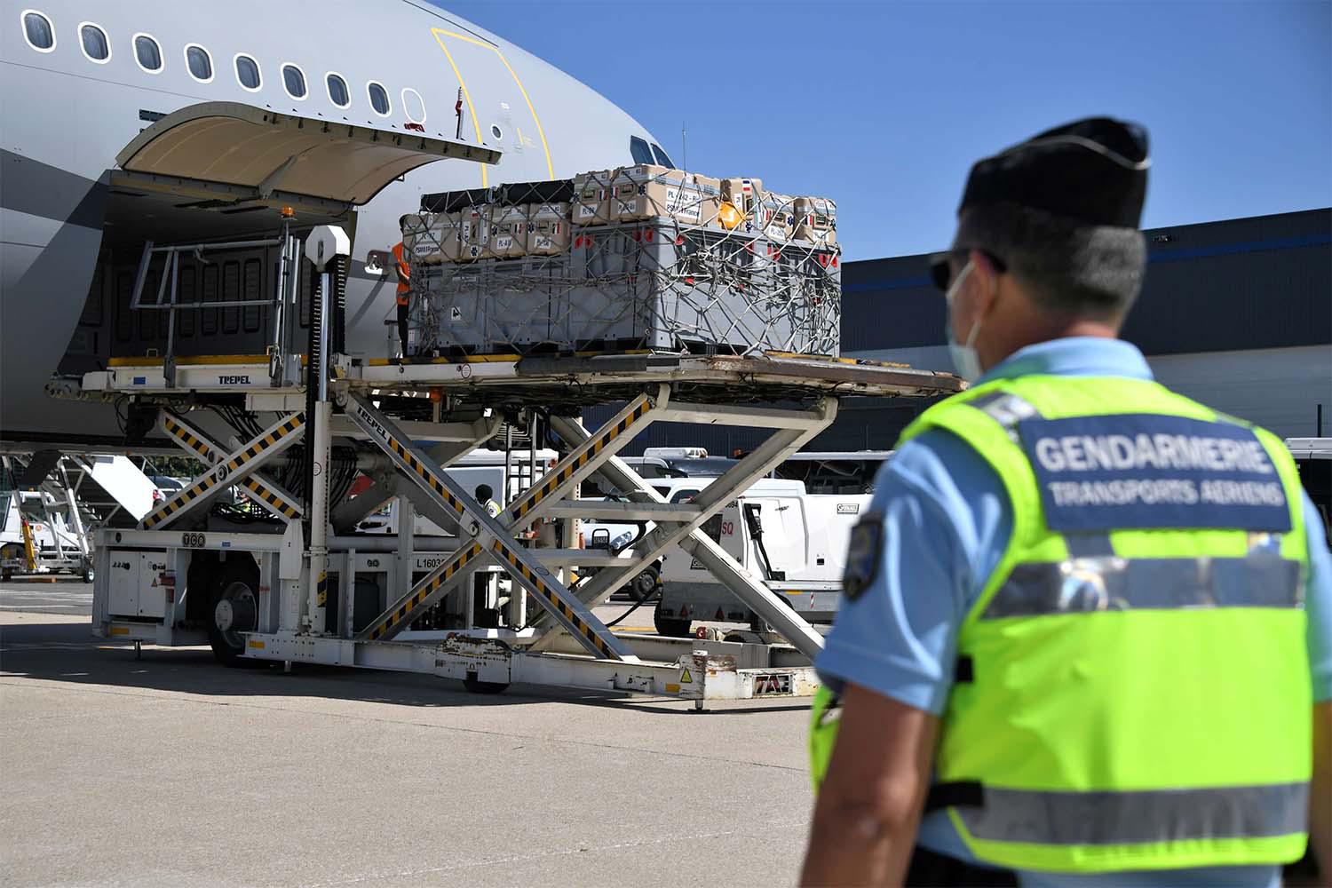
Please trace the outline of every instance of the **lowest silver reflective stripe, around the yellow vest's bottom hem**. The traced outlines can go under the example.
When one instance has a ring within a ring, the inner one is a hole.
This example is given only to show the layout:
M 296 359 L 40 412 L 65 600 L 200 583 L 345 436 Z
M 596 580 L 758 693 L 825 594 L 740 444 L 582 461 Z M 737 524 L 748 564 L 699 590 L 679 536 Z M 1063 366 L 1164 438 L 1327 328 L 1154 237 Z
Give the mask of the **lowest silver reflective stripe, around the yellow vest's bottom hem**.
M 984 799 L 983 808 L 955 808 L 976 839 L 1043 845 L 1119 845 L 1301 833 L 1309 784 L 1136 792 L 1040 792 L 986 787 Z

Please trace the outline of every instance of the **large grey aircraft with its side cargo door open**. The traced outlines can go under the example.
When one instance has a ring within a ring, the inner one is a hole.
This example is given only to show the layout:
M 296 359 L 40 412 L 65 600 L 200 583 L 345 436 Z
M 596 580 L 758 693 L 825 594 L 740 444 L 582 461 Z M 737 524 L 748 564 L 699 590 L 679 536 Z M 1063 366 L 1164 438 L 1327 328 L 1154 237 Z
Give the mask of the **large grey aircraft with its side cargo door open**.
M 44 389 L 161 347 L 165 313 L 129 309 L 147 240 L 272 238 L 284 204 L 302 226 L 337 222 L 353 238 L 346 350 L 382 355 L 385 250 L 422 194 L 673 165 L 589 87 L 421 0 L 4 0 L 0 96 L 9 447 L 124 442 L 109 405 Z M 180 298 L 270 294 L 276 257 L 186 261 Z M 184 312 L 180 353 L 225 354 L 262 324 L 257 309 Z

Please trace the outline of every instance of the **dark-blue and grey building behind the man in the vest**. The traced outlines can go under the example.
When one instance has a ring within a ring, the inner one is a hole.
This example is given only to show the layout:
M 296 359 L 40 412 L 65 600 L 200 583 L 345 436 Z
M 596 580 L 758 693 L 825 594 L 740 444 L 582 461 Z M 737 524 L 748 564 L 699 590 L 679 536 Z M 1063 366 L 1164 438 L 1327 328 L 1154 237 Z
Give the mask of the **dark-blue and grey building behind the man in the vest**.
M 1146 236 L 1147 280 L 1123 335 L 1143 350 L 1156 378 L 1281 437 L 1332 435 L 1332 209 L 1158 228 Z M 930 284 L 927 258 L 843 265 L 844 357 L 951 369 L 943 298 Z M 843 401 L 836 422 L 809 449 L 891 447 L 926 406 L 919 399 Z M 747 429 L 659 425 L 626 453 L 695 445 L 729 454 L 762 438 Z

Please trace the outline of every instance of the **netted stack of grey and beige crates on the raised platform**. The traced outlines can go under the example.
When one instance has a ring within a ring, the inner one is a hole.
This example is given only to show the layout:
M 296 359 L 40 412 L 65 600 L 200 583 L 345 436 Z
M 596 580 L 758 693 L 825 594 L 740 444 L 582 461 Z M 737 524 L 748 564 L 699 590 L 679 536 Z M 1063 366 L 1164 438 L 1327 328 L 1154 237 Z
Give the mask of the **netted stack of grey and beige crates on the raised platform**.
M 629 166 L 422 197 L 405 357 L 836 355 L 836 208 Z

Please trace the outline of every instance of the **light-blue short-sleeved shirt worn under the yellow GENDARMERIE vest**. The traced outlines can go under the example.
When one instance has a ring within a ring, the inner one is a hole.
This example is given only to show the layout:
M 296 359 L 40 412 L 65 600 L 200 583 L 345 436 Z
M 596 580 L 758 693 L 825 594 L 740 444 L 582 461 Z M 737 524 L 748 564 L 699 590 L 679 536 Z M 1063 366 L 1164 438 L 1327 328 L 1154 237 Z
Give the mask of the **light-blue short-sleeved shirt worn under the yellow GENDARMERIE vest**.
M 1032 345 L 982 382 L 1031 374 L 1150 379 L 1142 353 L 1119 339 L 1071 337 Z M 1012 535 L 1012 506 L 999 475 L 954 434 L 926 431 L 879 471 L 871 510 L 883 515 L 883 554 L 874 583 L 843 599 L 818 658 L 822 679 L 859 684 L 934 715 L 952 687 L 956 632 Z M 1313 699 L 1332 699 L 1332 555 L 1317 510 L 1305 497 L 1309 572 L 1309 670 Z M 922 845 L 972 860 L 942 811 L 920 824 Z M 975 863 L 972 860 L 972 863 Z M 1276 867 L 1213 867 L 1103 876 L 1019 873 L 1023 885 L 1277 885 Z

